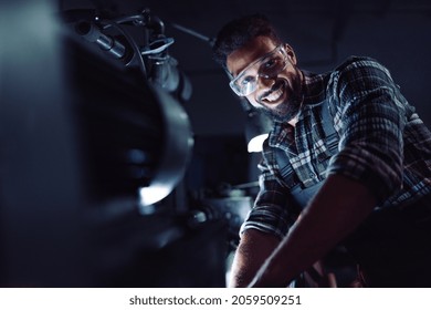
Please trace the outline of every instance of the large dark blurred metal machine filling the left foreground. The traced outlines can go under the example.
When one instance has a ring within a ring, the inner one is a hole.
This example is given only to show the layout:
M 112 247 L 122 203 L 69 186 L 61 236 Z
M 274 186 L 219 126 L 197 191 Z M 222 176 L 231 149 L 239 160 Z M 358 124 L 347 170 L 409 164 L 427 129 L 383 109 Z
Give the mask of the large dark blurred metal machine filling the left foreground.
M 191 87 L 162 21 L 2 7 L 0 285 L 224 286 L 225 221 L 177 189 Z

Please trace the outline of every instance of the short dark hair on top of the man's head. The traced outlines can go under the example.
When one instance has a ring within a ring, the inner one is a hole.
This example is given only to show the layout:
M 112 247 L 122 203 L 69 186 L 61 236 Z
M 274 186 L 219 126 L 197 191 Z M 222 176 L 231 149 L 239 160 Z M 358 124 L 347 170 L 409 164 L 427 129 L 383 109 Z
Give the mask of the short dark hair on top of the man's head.
M 264 14 L 255 13 L 234 19 L 219 31 L 212 46 L 212 58 L 227 70 L 228 55 L 260 35 L 270 38 L 276 45 L 282 43 Z

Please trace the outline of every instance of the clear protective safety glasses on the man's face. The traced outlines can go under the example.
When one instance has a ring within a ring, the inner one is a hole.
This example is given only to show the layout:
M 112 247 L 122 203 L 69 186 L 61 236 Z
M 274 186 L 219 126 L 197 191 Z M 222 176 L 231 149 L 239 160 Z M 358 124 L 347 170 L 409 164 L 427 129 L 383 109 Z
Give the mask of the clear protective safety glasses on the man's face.
M 249 64 L 229 85 L 239 96 L 246 96 L 257 89 L 259 78 L 271 79 L 287 66 L 287 54 L 282 45 Z M 254 73 L 255 72 L 255 73 Z

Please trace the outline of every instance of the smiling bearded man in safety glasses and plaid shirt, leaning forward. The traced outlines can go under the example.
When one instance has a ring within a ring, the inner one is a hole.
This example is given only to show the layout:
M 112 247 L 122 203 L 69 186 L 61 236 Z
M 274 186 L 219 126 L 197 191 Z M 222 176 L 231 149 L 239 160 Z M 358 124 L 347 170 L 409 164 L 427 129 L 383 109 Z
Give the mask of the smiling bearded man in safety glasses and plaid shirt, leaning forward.
M 275 124 L 230 286 L 288 286 L 343 245 L 366 286 L 431 287 L 431 133 L 388 70 L 369 58 L 299 70 L 259 14 L 224 25 L 213 52 Z

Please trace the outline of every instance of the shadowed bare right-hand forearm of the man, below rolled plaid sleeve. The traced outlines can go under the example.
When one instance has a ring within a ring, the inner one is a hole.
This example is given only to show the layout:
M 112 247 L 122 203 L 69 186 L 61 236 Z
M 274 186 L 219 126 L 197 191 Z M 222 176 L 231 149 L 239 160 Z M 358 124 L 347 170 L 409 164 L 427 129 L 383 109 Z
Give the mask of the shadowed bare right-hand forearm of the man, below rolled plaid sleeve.
M 329 176 L 251 286 L 288 285 L 356 229 L 375 205 L 375 197 L 364 185 Z

